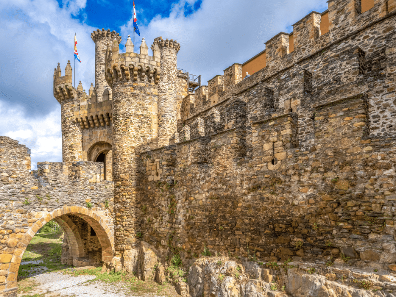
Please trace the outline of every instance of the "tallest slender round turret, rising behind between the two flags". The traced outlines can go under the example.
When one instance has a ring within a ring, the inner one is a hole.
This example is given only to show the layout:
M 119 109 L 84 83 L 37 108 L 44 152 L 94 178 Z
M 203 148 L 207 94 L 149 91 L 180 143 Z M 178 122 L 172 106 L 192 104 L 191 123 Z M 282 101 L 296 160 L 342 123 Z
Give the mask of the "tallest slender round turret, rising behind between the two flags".
M 98 102 L 102 101 L 102 96 L 105 88 L 108 86 L 105 80 L 105 56 L 107 47 L 111 47 L 113 40 L 117 40 L 118 44 L 121 43 L 121 36 L 119 33 L 110 29 L 101 31 L 97 29 L 91 33 L 91 38 L 95 42 L 95 90 L 98 95 Z M 111 90 L 109 91 L 111 92 Z M 111 99 L 111 93 L 110 93 Z

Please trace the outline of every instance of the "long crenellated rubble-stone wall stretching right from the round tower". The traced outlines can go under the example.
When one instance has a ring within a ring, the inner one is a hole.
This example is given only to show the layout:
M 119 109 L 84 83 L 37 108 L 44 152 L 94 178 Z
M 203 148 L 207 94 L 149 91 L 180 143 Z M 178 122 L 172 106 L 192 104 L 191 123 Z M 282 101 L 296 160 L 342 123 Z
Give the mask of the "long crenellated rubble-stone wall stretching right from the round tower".
M 144 241 L 186 258 L 396 261 L 395 13 L 345 3 L 329 3 L 329 33 L 309 15 L 292 53 L 277 35 L 267 67 L 242 81 L 234 64 L 183 99 L 174 145 L 140 158 Z

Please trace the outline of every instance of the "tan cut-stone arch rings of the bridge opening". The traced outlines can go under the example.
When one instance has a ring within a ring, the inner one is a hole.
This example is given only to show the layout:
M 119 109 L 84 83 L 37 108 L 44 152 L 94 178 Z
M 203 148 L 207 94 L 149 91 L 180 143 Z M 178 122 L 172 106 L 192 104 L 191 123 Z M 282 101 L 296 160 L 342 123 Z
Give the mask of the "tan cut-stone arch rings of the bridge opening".
M 83 255 L 82 240 L 79 238 L 78 232 L 76 232 L 77 226 L 67 217 L 69 214 L 80 217 L 94 229 L 101 246 L 101 260 L 103 262 L 111 261 L 114 255 L 114 236 L 113 230 L 110 228 L 111 225 L 108 224 L 109 218 L 105 216 L 105 214 L 82 206 L 64 206 L 62 208 L 57 208 L 53 211 L 43 213 L 41 217 L 37 218 L 37 221 L 25 232 L 22 239 L 13 239 L 12 243 L 10 242 L 11 240 L 9 241 L 8 246 L 13 246 L 15 248 L 12 253 L 8 254 L 8 261 L 4 261 L 4 259 L 7 258 L 5 254 L 2 254 L 3 258 L 1 261 L 1 263 L 3 263 L 1 264 L 2 269 L 5 268 L 4 270 L 8 270 L 4 292 L 12 292 L 9 296 L 14 296 L 13 291 L 16 290 L 19 265 L 26 247 L 35 236 L 36 232 L 50 220 L 60 223 L 59 225 L 65 232 L 68 243 L 71 244 L 70 249 L 73 256 L 79 257 Z M 8 266 L 8 269 L 5 266 Z

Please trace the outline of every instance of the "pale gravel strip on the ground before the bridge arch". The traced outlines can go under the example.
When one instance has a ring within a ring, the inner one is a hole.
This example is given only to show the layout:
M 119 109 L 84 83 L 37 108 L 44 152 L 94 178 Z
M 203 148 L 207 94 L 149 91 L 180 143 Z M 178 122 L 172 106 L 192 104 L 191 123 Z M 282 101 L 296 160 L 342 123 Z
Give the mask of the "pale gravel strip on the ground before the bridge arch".
M 57 272 L 47 272 L 32 277 L 40 285 L 35 287 L 29 295 L 45 294 L 45 297 L 132 297 L 129 290 L 122 284 L 105 284 L 93 280 L 94 275 L 71 276 Z M 24 294 L 18 294 L 23 296 Z

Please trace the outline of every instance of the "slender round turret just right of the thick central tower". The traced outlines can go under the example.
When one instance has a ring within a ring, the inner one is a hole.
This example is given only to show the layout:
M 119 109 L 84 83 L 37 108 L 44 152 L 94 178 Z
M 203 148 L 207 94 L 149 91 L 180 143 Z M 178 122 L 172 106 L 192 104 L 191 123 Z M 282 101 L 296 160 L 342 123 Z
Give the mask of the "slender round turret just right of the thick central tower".
M 151 49 L 157 46 L 161 56 L 161 76 L 158 82 L 158 147 L 168 146 L 177 131 L 177 63 L 180 49 L 177 41 L 154 39 Z

